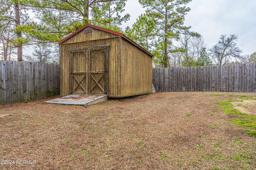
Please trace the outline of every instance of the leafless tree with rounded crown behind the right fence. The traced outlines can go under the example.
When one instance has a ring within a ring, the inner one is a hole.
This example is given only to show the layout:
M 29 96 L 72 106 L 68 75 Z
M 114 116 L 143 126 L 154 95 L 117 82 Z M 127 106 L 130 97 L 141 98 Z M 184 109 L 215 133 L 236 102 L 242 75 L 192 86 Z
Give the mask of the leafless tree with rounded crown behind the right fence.
M 233 58 L 241 57 L 242 51 L 237 47 L 236 35 L 221 35 L 218 44 L 212 47 L 212 58 L 218 65 L 227 64 Z

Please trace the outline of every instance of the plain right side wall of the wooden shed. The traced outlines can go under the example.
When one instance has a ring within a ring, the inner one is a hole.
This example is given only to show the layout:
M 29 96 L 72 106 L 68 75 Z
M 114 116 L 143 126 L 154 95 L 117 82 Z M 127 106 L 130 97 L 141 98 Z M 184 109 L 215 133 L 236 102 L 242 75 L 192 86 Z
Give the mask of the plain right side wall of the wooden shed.
M 152 57 L 122 38 L 121 96 L 152 92 Z

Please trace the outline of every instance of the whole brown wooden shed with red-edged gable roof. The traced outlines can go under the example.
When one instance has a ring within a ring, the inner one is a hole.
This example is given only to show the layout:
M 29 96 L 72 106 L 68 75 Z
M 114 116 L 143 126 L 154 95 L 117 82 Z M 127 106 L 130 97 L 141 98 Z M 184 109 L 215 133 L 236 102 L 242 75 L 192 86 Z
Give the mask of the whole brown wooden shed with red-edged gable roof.
M 59 45 L 60 95 L 152 92 L 153 55 L 123 33 L 86 24 Z

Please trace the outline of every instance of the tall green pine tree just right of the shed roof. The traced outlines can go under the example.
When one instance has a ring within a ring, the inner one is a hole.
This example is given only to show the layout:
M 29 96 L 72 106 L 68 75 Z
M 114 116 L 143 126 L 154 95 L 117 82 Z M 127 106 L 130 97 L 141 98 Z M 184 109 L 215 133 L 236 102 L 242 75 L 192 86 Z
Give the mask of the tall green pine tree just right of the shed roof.
M 189 30 L 184 26 L 185 15 L 190 11 L 186 5 L 191 0 L 139 0 L 148 13 L 156 17 L 156 47 L 157 64 L 170 66 L 171 53 L 179 52 L 180 48 L 173 46 L 173 39 L 179 39 L 181 33 Z

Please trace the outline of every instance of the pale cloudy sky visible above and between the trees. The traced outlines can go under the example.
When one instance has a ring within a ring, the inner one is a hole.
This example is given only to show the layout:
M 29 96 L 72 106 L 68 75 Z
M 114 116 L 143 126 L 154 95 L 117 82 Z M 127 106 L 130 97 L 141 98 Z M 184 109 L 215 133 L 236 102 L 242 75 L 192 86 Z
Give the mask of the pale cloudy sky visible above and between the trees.
M 244 54 L 256 52 L 256 0 L 192 0 L 188 6 L 191 11 L 185 25 L 200 33 L 208 48 L 217 44 L 221 35 L 235 34 Z M 127 0 L 124 13 L 131 18 L 122 25 L 123 30 L 131 27 L 145 8 L 138 0 Z M 25 54 L 29 53 L 31 49 L 25 49 Z

